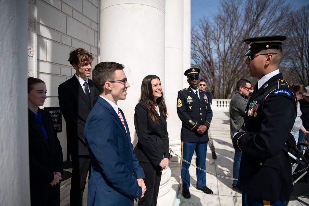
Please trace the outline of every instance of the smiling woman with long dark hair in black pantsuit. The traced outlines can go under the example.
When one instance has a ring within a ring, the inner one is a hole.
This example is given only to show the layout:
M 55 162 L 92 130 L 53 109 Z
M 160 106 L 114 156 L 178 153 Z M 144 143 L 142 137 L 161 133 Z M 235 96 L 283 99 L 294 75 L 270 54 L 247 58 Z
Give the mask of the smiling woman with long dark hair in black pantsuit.
M 147 188 L 138 206 L 157 205 L 162 170 L 167 169 L 169 161 L 166 118 L 160 78 L 148 75 L 142 81 L 141 97 L 134 114 L 138 143 L 133 151 L 144 170 Z

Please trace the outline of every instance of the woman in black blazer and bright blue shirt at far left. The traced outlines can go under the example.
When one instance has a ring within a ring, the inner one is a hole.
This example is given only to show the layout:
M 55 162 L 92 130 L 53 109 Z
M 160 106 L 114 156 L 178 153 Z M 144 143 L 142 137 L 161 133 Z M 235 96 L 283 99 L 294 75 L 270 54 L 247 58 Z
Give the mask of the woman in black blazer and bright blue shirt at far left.
M 62 149 L 44 105 L 45 83 L 28 78 L 30 197 L 32 206 L 59 206 Z

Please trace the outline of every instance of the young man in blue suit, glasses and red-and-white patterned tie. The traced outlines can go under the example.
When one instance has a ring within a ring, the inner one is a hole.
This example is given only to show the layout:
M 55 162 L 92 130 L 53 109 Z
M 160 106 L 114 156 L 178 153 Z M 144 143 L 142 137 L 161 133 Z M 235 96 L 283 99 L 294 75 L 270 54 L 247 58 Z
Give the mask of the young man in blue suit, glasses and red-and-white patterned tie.
M 146 191 L 145 174 L 133 153 L 127 121 L 117 105 L 130 86 L 116 62 L 101 62 L 93 70 L 100 96 L 91 110 L 85 138 L 91 159 L 88 205 L 134 205 Z

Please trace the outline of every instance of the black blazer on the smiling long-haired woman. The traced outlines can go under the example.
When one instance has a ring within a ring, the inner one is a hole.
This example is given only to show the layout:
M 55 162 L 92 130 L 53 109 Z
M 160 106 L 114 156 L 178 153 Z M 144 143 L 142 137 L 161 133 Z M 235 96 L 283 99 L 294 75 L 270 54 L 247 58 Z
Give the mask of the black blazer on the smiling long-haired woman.
M 134 153 L 138 161 L 159 165 L 163 158 L 169 159 L 169 142 L 166 130 L 166 120 L 161 111 L 159 123 L 156 124 L 150 118 L 146 104 L 141 102 L 135 107 L 134 125 L 138 136 L 138 143 Z

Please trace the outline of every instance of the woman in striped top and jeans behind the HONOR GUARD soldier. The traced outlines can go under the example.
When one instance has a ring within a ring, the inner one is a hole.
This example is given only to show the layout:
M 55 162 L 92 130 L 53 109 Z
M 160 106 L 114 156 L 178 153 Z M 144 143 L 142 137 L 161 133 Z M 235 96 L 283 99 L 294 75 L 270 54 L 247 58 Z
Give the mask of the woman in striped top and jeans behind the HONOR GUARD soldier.
M 302 112 L 300 110 L 300 104 L 298 100 L 303 99 L 304 96 L 306 95 L 306 88 L 303 85 L 297 85 L 294 86 L 294 91 L 296 94 L 296 99 L 297 99 L 297 116 L 293 125 L 293 128 L 291 130 L 291 134 L 294 136 L 294 139 L 296 141 L 296 144 L 298 143 L 298 132 L 301 130 L 305 135 L 309 134 L 309 132 L 306 131 L 306 129 L 303 126 L 303 121 L 300 119 L 300 116 L 302 116 Z

